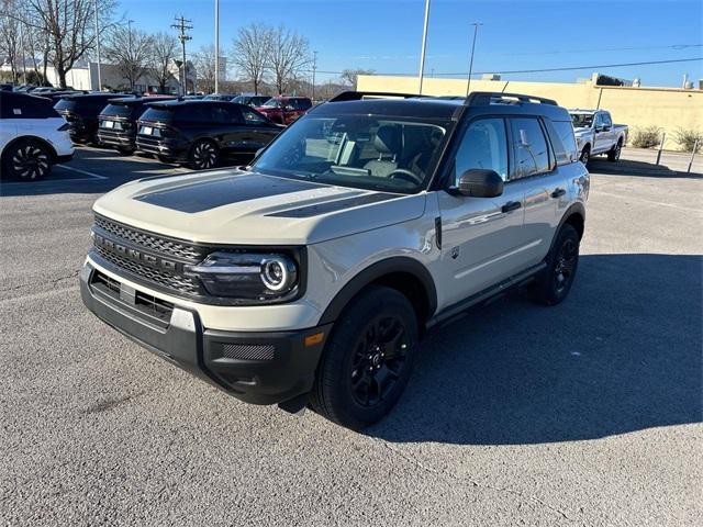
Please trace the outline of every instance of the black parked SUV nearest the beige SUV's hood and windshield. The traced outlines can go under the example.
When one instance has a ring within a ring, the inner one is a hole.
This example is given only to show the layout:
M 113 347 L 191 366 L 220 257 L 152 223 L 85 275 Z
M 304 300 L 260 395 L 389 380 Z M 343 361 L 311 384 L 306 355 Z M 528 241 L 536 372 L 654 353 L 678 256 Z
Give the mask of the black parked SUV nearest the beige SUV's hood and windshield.
M 177 100 L 148 104 L 138 121 L 136 147 L 163 162 L 212 168 L 222 158 L 252 160 L 282 130 L 256 110 L 219 101 Z

